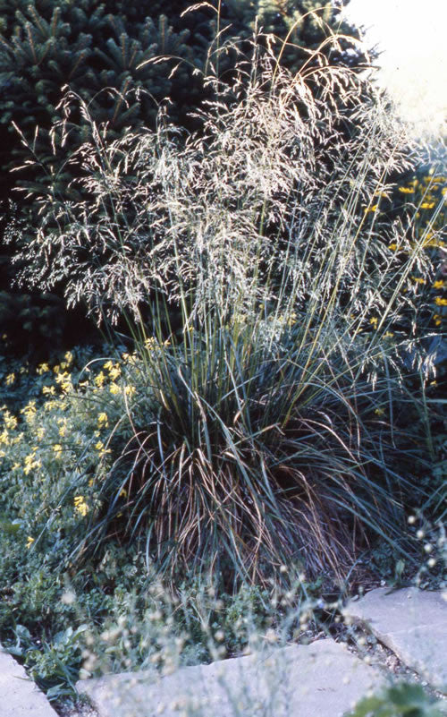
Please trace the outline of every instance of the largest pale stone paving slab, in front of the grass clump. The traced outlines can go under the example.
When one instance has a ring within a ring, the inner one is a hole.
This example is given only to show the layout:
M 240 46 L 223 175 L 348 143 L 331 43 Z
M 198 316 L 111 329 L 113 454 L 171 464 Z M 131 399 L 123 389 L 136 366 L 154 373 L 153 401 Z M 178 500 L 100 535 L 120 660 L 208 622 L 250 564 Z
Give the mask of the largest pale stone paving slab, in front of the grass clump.
M 331 638 L 260 655 L 77 683 L 99 717 L 342 717 L 384 678 Z

